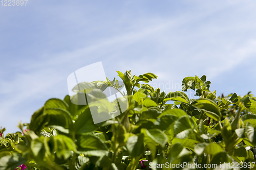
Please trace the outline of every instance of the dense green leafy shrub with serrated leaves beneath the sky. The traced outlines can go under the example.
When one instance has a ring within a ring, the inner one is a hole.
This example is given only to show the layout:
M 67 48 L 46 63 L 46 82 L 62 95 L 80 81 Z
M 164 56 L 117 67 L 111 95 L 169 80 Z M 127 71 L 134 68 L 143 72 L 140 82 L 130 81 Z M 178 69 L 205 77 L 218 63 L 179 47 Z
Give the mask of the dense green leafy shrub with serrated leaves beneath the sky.
M 137 77 L 131 70 L 117 72 L 129 101 L 124 113 L 94 124 L 88 105 L 72 104 L 69 95 L 50 99 L 33 114 L 30 124 L 19 125 L 22 133 L 4 137 L 1 129 L 0 169 L 116 170 L 150 169 L 150 163 L 166 162 L 254 162 L 256 98 L 252 94 L 217 98 L 206 76 L 195 76 L 182 81 L 183 91 L 195 90 L 200 97 L 189 99 L 182 91 L 166 94 L 141 84 L 156 79 L 152 73 Z M 121 87 L 115 79 L 92 84 L 93 90 Z

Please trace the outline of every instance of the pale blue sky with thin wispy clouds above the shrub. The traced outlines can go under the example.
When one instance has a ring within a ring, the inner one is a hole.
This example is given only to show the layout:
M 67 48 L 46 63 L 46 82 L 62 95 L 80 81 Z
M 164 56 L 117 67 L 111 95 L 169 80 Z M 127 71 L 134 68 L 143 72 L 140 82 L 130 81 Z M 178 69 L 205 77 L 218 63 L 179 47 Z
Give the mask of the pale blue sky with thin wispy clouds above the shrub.
M 158 76 L 151 85 L 181 91 L 207 76 L 217 95 L 256 93 L 256 1 L 32 1 L 0 4 L 0 126 L 68 94 L 75 70 L 102 62 Z M 193 97 L 193 94 L 189 97 Z

